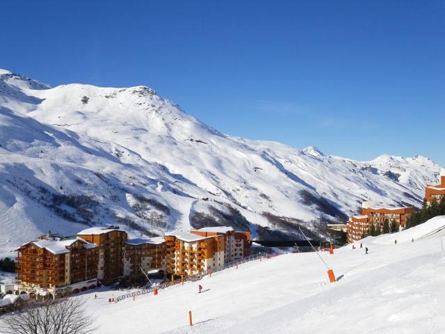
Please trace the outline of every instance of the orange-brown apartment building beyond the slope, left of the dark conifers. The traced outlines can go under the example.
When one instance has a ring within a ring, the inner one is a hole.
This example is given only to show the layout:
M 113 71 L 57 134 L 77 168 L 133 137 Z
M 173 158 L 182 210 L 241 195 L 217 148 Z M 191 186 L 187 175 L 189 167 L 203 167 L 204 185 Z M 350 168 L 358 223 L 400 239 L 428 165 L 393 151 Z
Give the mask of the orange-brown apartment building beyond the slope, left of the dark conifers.
M 347 223 L 348 243 L 358 241 L 364 234 L 369 232 L 369 227 L 373 224 L 382 230 L 383 224 L 394 221 L 398 230 L 404 230 L 407 218 L 414 212 L 414 207 L 375 207 L 373 202 L 364 202 L 361 214 L 352 216 Z

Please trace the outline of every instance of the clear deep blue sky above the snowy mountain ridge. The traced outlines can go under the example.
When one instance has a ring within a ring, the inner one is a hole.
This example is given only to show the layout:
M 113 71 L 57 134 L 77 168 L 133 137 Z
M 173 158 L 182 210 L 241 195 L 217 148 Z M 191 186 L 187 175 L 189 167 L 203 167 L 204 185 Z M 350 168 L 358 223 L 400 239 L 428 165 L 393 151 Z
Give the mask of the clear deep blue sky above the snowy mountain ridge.
M 1 1 L 0 67 L 154 88 L 226 134 L 445 165 L 445 1 Z

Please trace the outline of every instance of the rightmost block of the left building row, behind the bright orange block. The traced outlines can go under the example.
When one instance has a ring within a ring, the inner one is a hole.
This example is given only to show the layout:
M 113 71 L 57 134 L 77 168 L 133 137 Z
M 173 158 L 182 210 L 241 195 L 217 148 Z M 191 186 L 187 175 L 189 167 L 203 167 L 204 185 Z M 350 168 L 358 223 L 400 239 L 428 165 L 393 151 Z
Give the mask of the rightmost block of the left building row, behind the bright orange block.
M 202 237 L 222 235 L 224 237 L 224 262 L 230 262 L 250 255 L 250 232 L 237 232 L 230 226 L 215 226 L 191 230 Z

